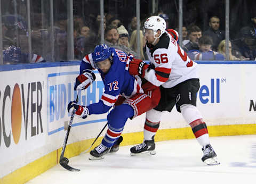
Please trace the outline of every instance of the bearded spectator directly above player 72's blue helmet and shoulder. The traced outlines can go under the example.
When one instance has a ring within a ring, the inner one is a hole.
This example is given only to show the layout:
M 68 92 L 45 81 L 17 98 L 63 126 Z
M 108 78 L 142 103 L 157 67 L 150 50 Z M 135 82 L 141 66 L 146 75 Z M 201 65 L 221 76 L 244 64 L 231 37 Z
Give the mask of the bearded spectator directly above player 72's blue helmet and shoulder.
M 117 28 L 115 28 L 114 26 L 108 26 L 105 30 L 105 44 L 107 44 L 109 47 L 114 47 L 116 49 L 124 51 L 128 55 L 132 54 L 135 57 L 137 56 L 137 54 L 134 51 L 132 51 L 132 49 L 130 49 L 129 47 L 119 45 L 118 39 L 119 34 Z

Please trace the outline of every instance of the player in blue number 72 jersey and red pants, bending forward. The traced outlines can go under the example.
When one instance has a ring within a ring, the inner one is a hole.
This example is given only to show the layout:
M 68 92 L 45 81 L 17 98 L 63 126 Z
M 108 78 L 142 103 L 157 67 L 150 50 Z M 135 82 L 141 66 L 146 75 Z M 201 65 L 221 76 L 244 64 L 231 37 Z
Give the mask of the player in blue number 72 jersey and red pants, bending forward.
M 127 56 L 123 51 L 102 44 L 96 46 L 94 52 L 86 55 L 81 62 L 75 90 L 87 88 L 95 80 L 92 70 L 98 69 L 105 91 L 98 103 L 81 106 L 70 102 L 68 111 L 72 112 L 75 108 L 75 114 L 85 119 L 91 114 L 106 113 L 115 105 L 107 116 L 106 135 L 101 144 L 91 150 L 90 160 L 102 159 L 103 155 L 117 151 L 118 148 L 113 149 L 113 145 L 122 141 L 120 136 L 126 120 L 145 113 L 159 102 L 159 87 L 147 81 L 142 83 L 139 76 L 132 76 L 129 73 L 128 66 L 131 60 L 132 56 Z

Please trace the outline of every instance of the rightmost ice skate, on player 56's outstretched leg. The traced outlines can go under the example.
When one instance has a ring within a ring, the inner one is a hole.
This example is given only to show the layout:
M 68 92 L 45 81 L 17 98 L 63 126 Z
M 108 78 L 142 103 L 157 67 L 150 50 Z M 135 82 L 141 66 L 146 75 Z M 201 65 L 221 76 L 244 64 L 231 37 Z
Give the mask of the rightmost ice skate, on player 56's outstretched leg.
M 202 161 L 207 165 L 218 165 L 220 162 L 217 159 L 217 154 L 214 152 L 212 146 L 206 145 L 202 148 L 204 156 L 202 157 Z

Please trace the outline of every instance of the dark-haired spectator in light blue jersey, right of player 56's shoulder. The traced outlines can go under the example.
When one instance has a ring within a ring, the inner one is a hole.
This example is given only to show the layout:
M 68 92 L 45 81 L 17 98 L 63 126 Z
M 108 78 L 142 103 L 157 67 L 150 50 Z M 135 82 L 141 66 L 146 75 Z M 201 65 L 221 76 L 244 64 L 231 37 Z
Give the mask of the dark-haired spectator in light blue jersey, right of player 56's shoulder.
M 202 36 L 198 40 L 199 51 L 191 50 L 188 52 L 188 56 L 192 60 L 225 60 L 224 56 L 218 52 L 212 51 L 213 44 L 212 38 L 209 36 Z

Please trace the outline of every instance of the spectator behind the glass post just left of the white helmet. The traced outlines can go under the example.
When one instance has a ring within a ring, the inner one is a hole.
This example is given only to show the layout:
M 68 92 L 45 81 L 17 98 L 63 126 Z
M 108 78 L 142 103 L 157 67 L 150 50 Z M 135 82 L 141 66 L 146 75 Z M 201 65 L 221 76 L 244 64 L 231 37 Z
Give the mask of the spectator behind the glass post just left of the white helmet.
M 133 49 L 133 51 L 137 52 L 137 30 L 132 31 L 130 46 Z M 140 30 L 140 56 L 141 60 L 148 60 L 146 54 L 146 38 L 143 36 L 142 30 Z

